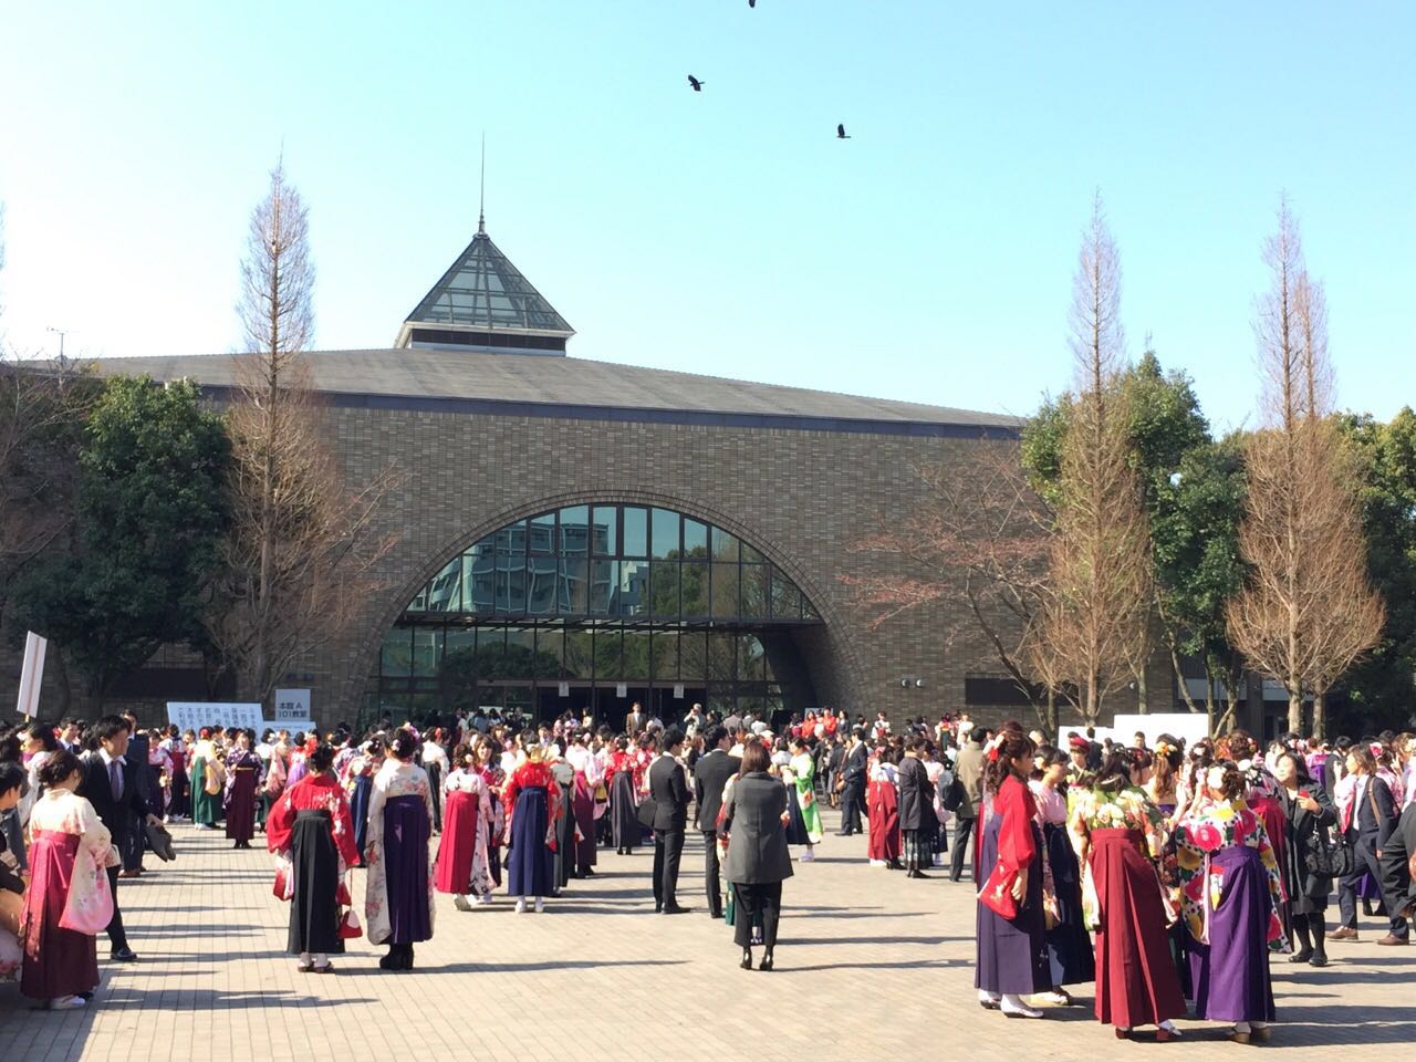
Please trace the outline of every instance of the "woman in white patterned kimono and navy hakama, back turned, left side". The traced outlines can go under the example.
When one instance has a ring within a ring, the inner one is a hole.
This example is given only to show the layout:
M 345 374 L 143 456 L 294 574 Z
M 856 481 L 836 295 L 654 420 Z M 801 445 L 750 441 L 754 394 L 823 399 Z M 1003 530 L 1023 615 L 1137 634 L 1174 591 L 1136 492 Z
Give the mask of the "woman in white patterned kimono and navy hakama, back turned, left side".
M 384 970 L 412 970 L 413 944 L 433 935 L 436 893 L 428 865 L 433 794 L 426 772 L 413 763 L 416 752 L 418 739 L 399 731 L 368 801 L 364 916 L 370 943 L 388 944 L 378 960 Z

